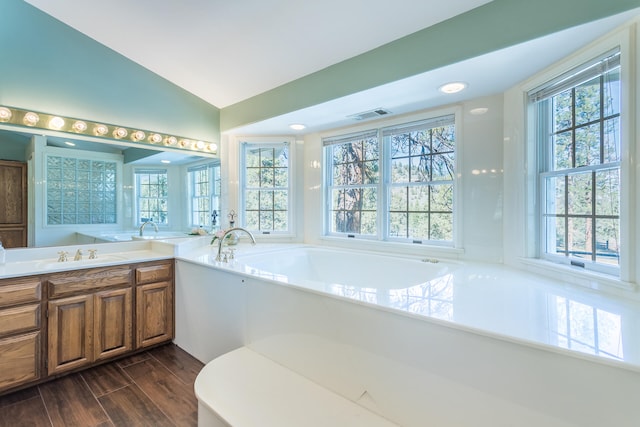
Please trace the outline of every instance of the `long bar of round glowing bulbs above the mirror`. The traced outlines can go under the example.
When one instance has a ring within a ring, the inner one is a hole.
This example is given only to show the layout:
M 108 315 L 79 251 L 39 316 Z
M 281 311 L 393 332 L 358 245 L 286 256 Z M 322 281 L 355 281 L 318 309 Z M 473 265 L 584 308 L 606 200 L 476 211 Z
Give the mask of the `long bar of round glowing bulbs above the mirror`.
M 77 118 L 58 116 L 56 114 L 39 113 L 5 105 L 0 105 L 0 123 L 17 126 L 26 125 L 36 129 L 53 129 L 74 135 L 97 136 L 105 139 L 117 139 L 143 145 L 164 143 L 164 145 L 167 146 L 190 151 L 211 154 L 217 154 L 218 152 L 217 144 L 202 140 L 80 120 Z M 67 123 L 69 125 L 67 125 Z

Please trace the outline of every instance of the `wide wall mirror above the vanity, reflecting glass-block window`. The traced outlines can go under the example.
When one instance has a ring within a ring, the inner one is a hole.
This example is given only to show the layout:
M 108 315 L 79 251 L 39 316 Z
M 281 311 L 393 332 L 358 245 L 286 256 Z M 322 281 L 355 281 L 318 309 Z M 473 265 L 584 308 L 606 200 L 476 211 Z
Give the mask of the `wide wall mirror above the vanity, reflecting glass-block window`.
M 5 247 L 188 237 L 218 227 L 217 156 L 34 131 L 0 128 Z M 146 226 L 140 236 L 146 221 L 158 231 Z

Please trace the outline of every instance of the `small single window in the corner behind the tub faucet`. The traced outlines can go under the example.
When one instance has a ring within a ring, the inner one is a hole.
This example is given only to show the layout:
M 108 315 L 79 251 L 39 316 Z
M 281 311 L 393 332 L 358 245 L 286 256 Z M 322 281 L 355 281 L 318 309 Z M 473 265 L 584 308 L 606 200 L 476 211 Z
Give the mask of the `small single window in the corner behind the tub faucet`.
M 241 222 L 262 234 L 290 232 L 290 150 L 288 142 L 242 143 Z

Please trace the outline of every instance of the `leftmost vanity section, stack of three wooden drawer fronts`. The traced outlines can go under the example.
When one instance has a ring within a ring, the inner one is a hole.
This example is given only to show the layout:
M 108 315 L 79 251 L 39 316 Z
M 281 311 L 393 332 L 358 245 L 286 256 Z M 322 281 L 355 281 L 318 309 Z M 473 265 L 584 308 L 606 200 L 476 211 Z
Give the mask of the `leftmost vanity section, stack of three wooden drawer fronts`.
M 39 277 L 0 280 L 0 390 L 41 378 Z

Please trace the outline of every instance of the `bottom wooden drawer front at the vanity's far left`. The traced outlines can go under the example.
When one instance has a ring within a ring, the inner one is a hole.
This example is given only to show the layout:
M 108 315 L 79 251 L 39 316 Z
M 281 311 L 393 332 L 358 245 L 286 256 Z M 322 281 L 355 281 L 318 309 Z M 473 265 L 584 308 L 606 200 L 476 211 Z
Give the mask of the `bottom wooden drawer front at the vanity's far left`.
M 40 378 L 40 332 L 0 339 L 0 390 Z

